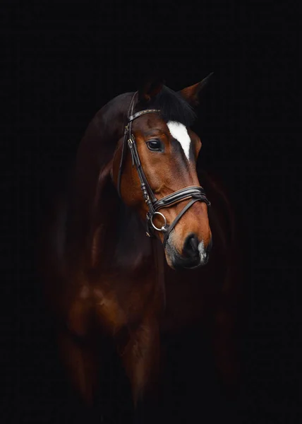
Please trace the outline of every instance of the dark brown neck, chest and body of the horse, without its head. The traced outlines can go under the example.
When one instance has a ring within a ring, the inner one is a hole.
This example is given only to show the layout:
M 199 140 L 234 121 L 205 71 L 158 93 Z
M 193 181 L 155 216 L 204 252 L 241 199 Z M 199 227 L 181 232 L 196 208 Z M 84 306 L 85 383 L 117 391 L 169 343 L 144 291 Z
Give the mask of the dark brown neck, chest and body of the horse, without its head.
M 202 268 L 171 269 L 162 240 L 146 237 L 142 214 L 123 204 L 112 182 L 132 97 L 118 96 L 88 126 L 71 189 L 56 202 L 43 242 L 44 281 L 62 357 L 88 404 L 95 399 L 108 340 L 131 382 L 135 406 L 156 390 L 162 338 L 192 326 L 212 331 L 217 367 L 228 381 L 236 374 L 232 337 L 239 278 L 228 201 L 210 175 L 199 173 L 212 203 L 212 256 Z M 133 172 L 130 160 L 124 172 Z M 121 189 L 127 189 L 123 181 Z

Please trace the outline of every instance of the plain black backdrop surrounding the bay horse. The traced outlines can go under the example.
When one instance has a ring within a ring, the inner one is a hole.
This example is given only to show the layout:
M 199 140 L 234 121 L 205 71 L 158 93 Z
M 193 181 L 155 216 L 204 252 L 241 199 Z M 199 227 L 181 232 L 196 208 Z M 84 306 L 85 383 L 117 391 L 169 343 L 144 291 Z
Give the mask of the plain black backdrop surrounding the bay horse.
M 174 90 L 215 73 L 195 129 L 201 165 L 228 187 L 247 252 L 238 423 L 301 422 L 298 3 L 2 5 L 1 422 L 88 422 L 56 358 L 36 237 L 49 185 L 90 119 L 153 70 Z M 202 422 L 202 396 L 198 407 Z

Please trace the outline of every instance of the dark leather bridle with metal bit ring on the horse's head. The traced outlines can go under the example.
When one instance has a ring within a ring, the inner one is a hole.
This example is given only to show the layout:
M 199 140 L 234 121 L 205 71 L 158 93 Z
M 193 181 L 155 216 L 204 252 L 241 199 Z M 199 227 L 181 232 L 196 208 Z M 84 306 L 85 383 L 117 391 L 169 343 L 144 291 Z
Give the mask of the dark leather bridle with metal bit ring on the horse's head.
M 135 143 L 135 138 L 132 133 L 132 122 L 134 119 L 138 119 L 139 117 L 143 116 L 147 113 L 157 113 L 160 112 L 160 110 L 157 109 L 146 109 L 146 110 L 140 110 L 140 112 L 136 112 L 133 114 L 134 109 L 134 98 L 136 93 L 133 95 L 133 98 L 131 100 L 131 104 L 129 106 L 128 110 L 128 124 L 125 126 L 124 136 L 123 136 L 123 147 L 122 147 L 122 153 L 121 153 L 121 162 L 119 165 L 119 175 L 118 175 L 118 181 L 117 181 L 117 189 L 119 192 L 119 196 L 121 197 L 121 174 L 123 170 L 123 162 L 126 155 L 126 144 L 128 143 L 128 147 L 131 152 L 131 158 L 132 158 L 132 166 L 135 165 L 136 170 L 138 171 L 138 177 L 140 179 L 140 188 L 143 192 L 143 198 L 145 199 L 145 203 L 147 204 L 149 211 L 147 212 L 147 228 L 146 228 L 146 235 L 148 237 L 151 237 L 152 235 L 152 228 L 153 230 L 162 231 L 164 232 L 164 241 L 163 245 L 165 246 L 168 240 L 168 237 L 170 235 L 171 230 L 175 227 L 175 225 L 179 222 L 181 217 L 188 211 L 189 208 L 193 204 L 195 204 L 196 201 L 203 201 L 207 204 L 207 206 L 210 206 L 210 201 L 207 200 L 207 197 L 205 196 L 205 190 L 203 187 L 200 186 L 190 186 L 185 187 L 184 189 L 177 190 L 174 193 L 168 194 L 167 196 L 162 197 L 162 199 L 157 200 L 154 193 L 152 192 L 152 189 L 147 182 L 147 178 L 145 176 L 145 172 L 143 171 L 142 164 L 140 163 L 140 157 L 138 155 L 138 148 Z M 181 201 L 191 199 L 191 201 L 188 202 L 188 204 L 183 208 L 183 210 L 179 213 L 178 216 L 174 219 L 174 221 L 171 223 L 171 225 L 167 224 L 167 219 L 165 216 L 159 212 L 159 209 L 167 208 L 169 206 L 173 206 L 175 204 L 178 204 Z M 160 216 L 163 220 L 162 227 L 157 228 L 155 224 L 153 223 L 153 218 L 155 216 Z

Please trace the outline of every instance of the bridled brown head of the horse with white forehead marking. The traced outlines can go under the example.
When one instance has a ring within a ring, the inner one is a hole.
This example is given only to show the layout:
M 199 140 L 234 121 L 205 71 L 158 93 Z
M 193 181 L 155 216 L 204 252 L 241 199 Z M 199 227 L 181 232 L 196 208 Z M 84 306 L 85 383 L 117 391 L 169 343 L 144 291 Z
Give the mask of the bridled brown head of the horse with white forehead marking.
M 202 143 L 190 128 L 207 78 L 178 92 L 157 78 L 131 93 L 112 160 L 121 199 L 161 240 L 173 269 L 207 264 L 212 246 L 210 202 L 196 170 Z

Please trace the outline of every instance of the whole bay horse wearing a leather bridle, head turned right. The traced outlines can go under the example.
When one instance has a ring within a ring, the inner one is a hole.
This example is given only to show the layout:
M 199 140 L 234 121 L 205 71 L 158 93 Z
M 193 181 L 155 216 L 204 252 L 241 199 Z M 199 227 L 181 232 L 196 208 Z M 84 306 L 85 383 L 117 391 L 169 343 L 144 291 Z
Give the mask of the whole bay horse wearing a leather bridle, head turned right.
M 135 422 L 152 415 L 169 336 L 208 331 L 223 381 L 238 373 L 236 225 L 224 189 L 197 170 L 191 129 L 208 80 L 176 92 L 150 78 L 104 105 L 45 227 L 43 278 L 71 382 L 93 406 L 112 343 Z

